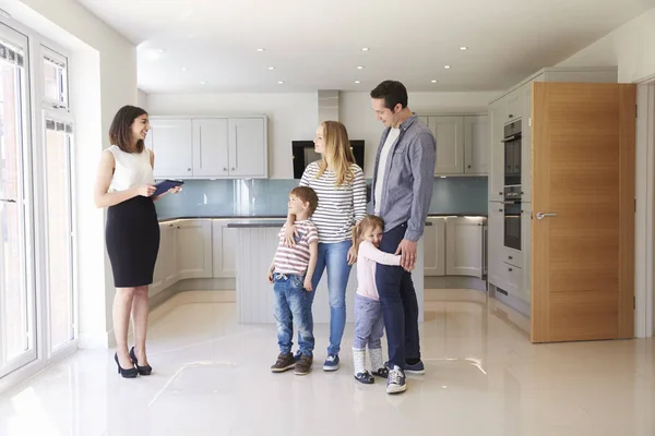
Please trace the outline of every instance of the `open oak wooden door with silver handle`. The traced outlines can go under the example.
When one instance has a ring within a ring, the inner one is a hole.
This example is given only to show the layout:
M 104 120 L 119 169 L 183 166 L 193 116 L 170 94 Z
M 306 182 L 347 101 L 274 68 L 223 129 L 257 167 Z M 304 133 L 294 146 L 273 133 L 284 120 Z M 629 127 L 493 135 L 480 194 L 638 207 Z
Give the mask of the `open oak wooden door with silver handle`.
M 531 340 L 632 338 L 636 88 L 532 86 Z

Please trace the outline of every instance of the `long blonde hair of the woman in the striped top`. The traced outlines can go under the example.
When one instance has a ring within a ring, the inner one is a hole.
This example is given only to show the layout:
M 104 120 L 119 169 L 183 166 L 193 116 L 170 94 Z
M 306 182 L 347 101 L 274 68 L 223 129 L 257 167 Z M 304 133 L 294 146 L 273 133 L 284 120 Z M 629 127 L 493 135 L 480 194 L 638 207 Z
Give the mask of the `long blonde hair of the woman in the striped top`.
M 350 149 L 350 141 L 348 141 L 348 132 L 346 126 L 338 121 L 324 121 L 321 123 L 323 128 L 323 140 L 325 141 L 325 150 L 323 158 L 319 162 L 319 179 L 327 167 L 336 173 L 336 185 L 348 184 L 355 179 L 355 173 L 350 168 L 355 164 L 355 156 Z

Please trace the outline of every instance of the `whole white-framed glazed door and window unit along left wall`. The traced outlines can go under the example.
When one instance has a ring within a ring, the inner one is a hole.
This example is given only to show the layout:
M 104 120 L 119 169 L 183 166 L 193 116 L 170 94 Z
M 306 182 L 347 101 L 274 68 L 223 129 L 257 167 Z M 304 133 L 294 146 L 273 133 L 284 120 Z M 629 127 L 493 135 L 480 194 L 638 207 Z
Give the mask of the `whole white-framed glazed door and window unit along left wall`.
M 3 21 L 0 390 L 76 347 L 68 58 L 32 31 L 12 24 L 17 32 Z

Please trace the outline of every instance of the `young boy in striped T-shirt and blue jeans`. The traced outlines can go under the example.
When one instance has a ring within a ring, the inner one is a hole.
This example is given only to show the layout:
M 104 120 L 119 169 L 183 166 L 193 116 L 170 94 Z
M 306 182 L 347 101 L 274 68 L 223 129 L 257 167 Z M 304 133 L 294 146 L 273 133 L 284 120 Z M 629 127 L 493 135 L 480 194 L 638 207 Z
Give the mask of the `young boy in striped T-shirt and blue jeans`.
M 319 232 L 309 220 L 319 205 L 317 193 L 309 186 L 297 186 L 289 193 L 288 210 L 296 216 L 296 244 L 285 243 L 286 223 L 278 233 L 279 242 L 269 268 L 269 282 L 275 293 L 275 320 L 279 355 L 271 366 L 274 373 L 294 368 L 297 375 L 311 371 L 313 361 L 313 319 L 311 316 L 311 278 L 319 253 Z M 294 323 L 298 328 L 300 358 L 291 354 Z

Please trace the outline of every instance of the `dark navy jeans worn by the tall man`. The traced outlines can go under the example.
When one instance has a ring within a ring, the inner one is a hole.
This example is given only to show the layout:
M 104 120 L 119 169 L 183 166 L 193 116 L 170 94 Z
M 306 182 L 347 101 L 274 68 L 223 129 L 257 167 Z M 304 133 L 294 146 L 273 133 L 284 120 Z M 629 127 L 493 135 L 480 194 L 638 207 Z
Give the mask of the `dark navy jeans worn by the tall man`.
M 380 250 L 395 253 L 406 230 L 407 223 L 403 223 L 384 232 Z M 376 284 L 382 303 L 390 367 L 405 368 L 405 360 L 420 359 L 418 301 L 412 274 L 400 266 L 378 264 Z

